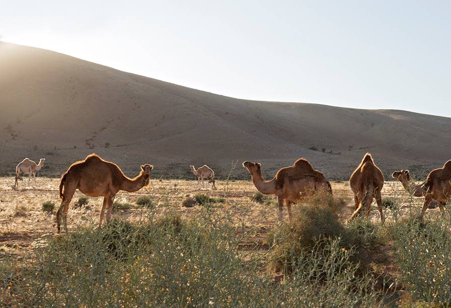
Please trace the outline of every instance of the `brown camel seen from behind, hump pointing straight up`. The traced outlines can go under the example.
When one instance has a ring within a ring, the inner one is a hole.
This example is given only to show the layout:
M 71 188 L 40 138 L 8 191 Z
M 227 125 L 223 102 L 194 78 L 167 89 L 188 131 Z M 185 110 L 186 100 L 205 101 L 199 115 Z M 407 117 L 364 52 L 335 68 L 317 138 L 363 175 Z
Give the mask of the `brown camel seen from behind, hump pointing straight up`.
M 349 186 L 354 193 L 354 213 L 351 219 L 356 215 L 360 215 L 362 210 L 365 212 L 366 218 L 369 218 L 371 202 L 375 198 L 378 204 L 379 214 L 381 215 L 381 222 L 384 223 L 385 216 L 382 211 L 381 197 L 382 187 L 384 186 L 384 174 L 374 164 L 371 154 L 366 153 L 363 156 L 357 169 L 352 172 L 349 178 Z

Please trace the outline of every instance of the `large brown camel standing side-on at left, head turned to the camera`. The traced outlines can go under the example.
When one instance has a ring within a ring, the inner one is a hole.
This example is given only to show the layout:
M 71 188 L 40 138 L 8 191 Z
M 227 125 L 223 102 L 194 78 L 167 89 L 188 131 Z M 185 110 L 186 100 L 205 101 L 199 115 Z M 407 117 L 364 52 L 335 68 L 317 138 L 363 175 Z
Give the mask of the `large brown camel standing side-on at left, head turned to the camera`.
M 67 233 L 66 214 L 69 203 L 77 189 L 90 197 L 103 196 L 103 205 L 100 212 L 99 228 L 107 209 L 106 219 L 110 221 L 114 196 L 119 191 L 136 192 L 148 185 L 153 165 L 141 165 L 141 171 L 135 178 L 128 178 L 115 163 L 103 160 L 96 154 L 88 155 L 85 160 L 74 162 L 62 175 L 59 184 L 59 198 L 61 205 L 56 212 L 58 233 L 60 220 L 63 216 L 64 230 Z M 64 191 L 63 191 L 64 188 Z

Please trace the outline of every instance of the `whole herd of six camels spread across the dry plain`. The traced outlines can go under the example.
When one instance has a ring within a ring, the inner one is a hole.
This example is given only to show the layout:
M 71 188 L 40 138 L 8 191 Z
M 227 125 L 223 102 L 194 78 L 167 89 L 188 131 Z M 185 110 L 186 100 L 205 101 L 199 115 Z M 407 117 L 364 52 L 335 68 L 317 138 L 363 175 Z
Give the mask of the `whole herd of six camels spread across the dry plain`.
M 16 167 L 16 185 L 21 173 L 29 174 L 36 179 L 36 172 L 44 165 L 44 158 L 39 164 L 25 158 Z M 277 171 L 273 179 L 267 181 L 263 177 L 260 163 L 245 161 L 245 167 L 251 174 L 252 182 L 258 191 L 265 195 L 275 195 L 278 201 L 278 220 L 282 220 L 283 203 L 287 207 L 288 220 L 291 221 L 291 203 L 299 201 L 306 196 L 312 196 L 318 192 L 332 194 L 330 182 L 323 173 L 315 170 L 310 162 L 305 158 L 299 158 L 289 167 L 281 168 Z M 100 213 L 99 227 L 102 225 L 103 216 L 106 210 L 106 220 L 110 221 L 111 210 L 113 208 L 114 196 L 119 191 L 136 192 L 148 185 L 150 182 L 153 165 L 141 165 L 141 171 L 134 178 L 124 175 L 122 170 L 115 163 L 103 160 L 96 154 L 88 155 L 85 160 L 78 161 L 70 165 L 62 175 L 59 184 L 59 197 L 61 205 L 56 212 L 58 233 L 60 232 L 60 221 L 63 218 L 64 229 L 67 232 L 66 214 L 73 194 L 78 189 L 83 194 L 90 197 L 104 197 L 102 210 Z M 197 170 L 190 166 L 191 171 L 197 176 L 198 181 L 210 178 L 215 187 L 214 172 L 207 165 L 199 167 Z M 395 171 L 392 177 L 398 179 L 404 189 L 416 197 L 424 197 L 424 205 L 419 215 L 419 219 L 428 208 L 432 200 L 435 200 L 440 211 L 443 213 L 443 206 L 448 198 L 451 198 L 451 160 L 448 160 L 443 167 L 432 170 L 426 180 L 421 184 L 416 184 L 409 174 L 409 170 Z M 375 199 L 381 215 L 381 222 L 384 223 L 385 216 L 382 208 L 381 190 L 384 186 L 384 175 L 373 161 L 371 154 L 366 153 L 358 167 L 349 178 L 349 184 L 354 193 L 354 213 L 356 215 L 365 213 L 369 217 L 369 209 L 372 200 Z

